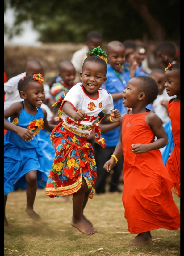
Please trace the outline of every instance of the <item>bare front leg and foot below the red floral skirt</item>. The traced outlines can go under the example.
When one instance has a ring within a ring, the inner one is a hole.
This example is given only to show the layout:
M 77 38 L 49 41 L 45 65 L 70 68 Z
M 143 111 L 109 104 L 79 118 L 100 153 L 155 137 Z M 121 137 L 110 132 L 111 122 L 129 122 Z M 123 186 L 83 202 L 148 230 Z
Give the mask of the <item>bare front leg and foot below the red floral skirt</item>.
M 95 233 L 94 229 L 90 227 L 90 225 L 87 224 L 86 221 L 82 219 L 82 211 L 83 211 L 85 194 L 88 194 L 89 196 L 89 193 L 90 191 L 88 190 L 86 181 L 84 178 L 82 178 L 81 188 L 77 193 L 73 194 L 73 199 L 72 199 L 73 200 L 73 218 L 72 218 L 71 225 L 73 227 L 76 227 L 80 232 L 86 235 Z

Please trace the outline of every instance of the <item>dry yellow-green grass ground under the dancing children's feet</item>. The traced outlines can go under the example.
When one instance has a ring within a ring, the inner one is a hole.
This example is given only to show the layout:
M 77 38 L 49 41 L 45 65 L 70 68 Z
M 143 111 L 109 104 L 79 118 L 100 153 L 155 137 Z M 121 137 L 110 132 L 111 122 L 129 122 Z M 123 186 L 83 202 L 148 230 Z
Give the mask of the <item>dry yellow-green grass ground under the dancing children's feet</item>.
M 174 200 L 180 208 L 179 198 L 174 195 Z M 153 230 L 151 233 L 156 240 L 152 245 L 129 244 L 135 235 L 128 232 L 121 193 L 94 195 L 92 200 L 89 199 L 84 214 L 98 229 L 91 236 L 70 225 L 72 197 L 65 202 L 62 197 L 48 198 L 44 190 L 38 190 L 34 210 L 42 218 L 39 222 L 29 218 L 25 206 L 26 191 L 10 192 L 6 207 L 9 226 L 4 229 L 4 255 L 180 255 L 180 230 Z

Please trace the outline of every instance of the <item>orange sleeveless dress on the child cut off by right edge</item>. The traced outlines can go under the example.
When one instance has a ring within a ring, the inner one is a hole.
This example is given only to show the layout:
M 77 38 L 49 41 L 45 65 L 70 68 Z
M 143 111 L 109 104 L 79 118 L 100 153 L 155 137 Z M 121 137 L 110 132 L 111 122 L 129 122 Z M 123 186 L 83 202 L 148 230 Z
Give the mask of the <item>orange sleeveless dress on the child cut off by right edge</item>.
M 174 193 L 180 197 L 180 101 L 167 103 L 169 117 L 171 119 L 174 148 L 166 163 L 166 169 L 173 180 Z

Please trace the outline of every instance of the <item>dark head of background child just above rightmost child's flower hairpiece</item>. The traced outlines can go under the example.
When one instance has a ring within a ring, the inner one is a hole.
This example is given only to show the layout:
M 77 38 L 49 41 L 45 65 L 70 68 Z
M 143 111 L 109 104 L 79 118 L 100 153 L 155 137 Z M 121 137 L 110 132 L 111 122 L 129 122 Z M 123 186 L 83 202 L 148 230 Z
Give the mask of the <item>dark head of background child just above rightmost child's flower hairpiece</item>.
M 157 47 L 157 60 L 162 67 L 174 64 L 176 57 L 176 48 L 171 42 L 162 42 Z

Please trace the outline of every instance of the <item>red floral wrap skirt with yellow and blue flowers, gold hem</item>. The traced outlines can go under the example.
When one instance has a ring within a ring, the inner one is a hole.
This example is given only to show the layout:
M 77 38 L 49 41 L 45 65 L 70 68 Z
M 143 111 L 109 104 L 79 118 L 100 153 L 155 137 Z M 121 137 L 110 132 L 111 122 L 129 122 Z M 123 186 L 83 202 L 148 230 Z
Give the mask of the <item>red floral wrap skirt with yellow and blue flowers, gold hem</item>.
M 55 158 L 46 184 L 46 195 L 72 195 L 81 188 L 84 177 L 92 199 L 97 177 L 93 147 L 86 141 L 85 134 L 77 135 L 64 128 L 63 124 L 59 123 L 51 133 Z

